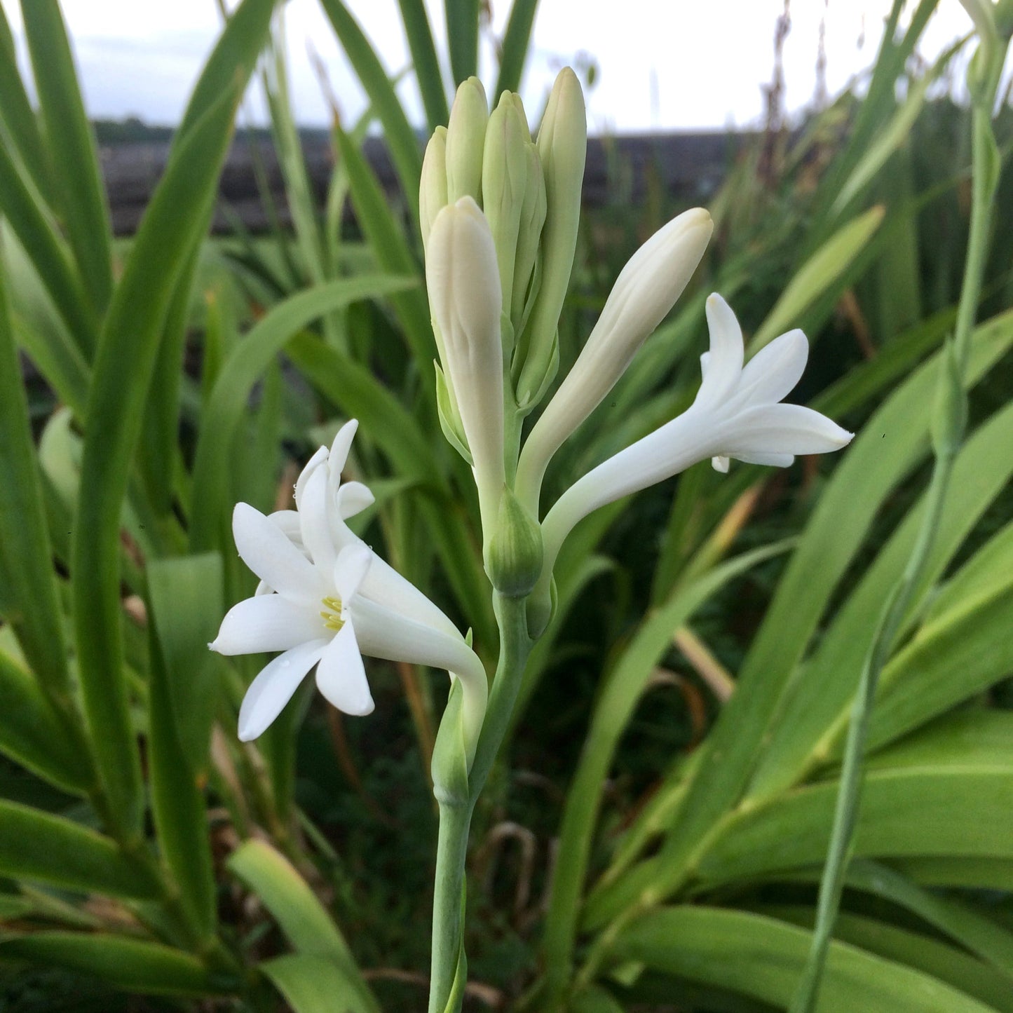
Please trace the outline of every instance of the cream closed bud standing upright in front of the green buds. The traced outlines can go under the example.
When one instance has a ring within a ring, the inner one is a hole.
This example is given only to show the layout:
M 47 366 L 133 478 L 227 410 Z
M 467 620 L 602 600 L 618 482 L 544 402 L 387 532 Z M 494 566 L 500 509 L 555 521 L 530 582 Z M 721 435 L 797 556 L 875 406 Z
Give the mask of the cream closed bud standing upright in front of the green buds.
M 470 197 L 437 215 L 425 256 L 425 284 L 443 335 L 444 373 L 471 451 L 482 530 L 488 538 L 504 476 L 502 298 L 492 232 Z

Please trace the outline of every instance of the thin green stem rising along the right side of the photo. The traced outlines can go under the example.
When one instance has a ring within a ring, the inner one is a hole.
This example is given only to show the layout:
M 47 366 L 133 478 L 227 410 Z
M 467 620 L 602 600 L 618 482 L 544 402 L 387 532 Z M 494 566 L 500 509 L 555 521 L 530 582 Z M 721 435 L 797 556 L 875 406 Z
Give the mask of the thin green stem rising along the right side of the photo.
M 970 332 L 978 311 L 988 253 L 989 224 L 996 190 L 991 107 L 991 100 L 982 101 L 976 104 L 972 112 L 973 196 L 970 231 L 967 239 L 967 260 L 964 266 L 953 340 L 953 359 L 957 376 L 952 377 L 950 382 L 954 387 L 961 385 L 966 372 Z M 945 371 L 946 368 L 947 363 L 944 357 L 940 363 L 940 369 Z M 922 519 L 918 537 L 905 571 L 890 593 L 880 615 L 872 644 L 862 667 L 858 691 L 852 705 L 851 722 L 848 727 L 848 739 L 841 769 L 841 786 L 835 806 L 830 849 L 820 883 L 820 899 L 816 906 L 812 941 L 790 1006 L 790 1013 L 812 1013 L 820 998 L 820 985 L 830 949 L 831 934 L 841 905 L 841 894 L 844 890 L 844 880 L 851 857 L 852 840 L 858 821 L 866 733 L 875 701 L 879 675 L 889 658 L 893 640 L 928 562 L 949 487 L 953 462 L 963 437 L 962 420 L 957 420 L 952 427 L 950 426 L 951 421 L 951 419 L 944 420 L 944 438 L 935 441 L 936 457 L 926 496 L 925 516 Z

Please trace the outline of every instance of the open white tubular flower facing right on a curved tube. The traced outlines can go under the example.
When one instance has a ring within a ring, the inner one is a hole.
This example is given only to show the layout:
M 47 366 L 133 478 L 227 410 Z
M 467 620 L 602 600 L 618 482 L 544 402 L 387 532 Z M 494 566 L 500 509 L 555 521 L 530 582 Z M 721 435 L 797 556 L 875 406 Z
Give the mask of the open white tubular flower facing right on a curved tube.
M 593 468 L 571 485 L 542 524 L 545 563 L 535 595 L 545 619 L 548 581 L 563 540 L 592 511 L 684 471 L 708 457 L 719 471 L 728 458 L 787 467 L 796 454 L 826 454 L 852 434 L 811 408 L 780 401 L 798 383 L 809 346 L 800 330 L 775 338 L 745 367 L 743 332 L 728 304 L 707 300 L 710 352 L 703 383 L 681 415 Z M 535 624 L 537 626 L 537 623 Z

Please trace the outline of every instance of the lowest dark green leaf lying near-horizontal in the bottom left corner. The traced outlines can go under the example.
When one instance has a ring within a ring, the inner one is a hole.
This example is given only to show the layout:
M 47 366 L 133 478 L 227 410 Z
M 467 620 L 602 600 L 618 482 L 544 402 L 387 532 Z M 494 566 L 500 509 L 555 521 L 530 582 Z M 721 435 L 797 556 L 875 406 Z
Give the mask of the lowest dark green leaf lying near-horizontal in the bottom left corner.
M 216 980 L 197 957 L 182 950 L 106 932 L 7 937 L 0 940 L 0 957 L 66 967 L 141 995 L 201 996 L 231 992 L 239 985 Z

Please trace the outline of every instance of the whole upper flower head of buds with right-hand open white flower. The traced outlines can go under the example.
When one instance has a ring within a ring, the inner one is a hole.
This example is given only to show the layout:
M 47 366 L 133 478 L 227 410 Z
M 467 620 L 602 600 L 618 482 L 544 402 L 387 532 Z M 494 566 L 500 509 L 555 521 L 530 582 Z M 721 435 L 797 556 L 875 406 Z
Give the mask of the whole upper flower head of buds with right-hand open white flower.
M 573 526 L 598 506 L 711 458 L 785 466 L 837 450 L 851 435 L 781 399 L 801 376 L 808 342 L 791 331 L 749 365 L 720 296 L 707 303 L 711 352 L 693 405 L 575 482 L 540 514 L 552 456 L 615 385 L 696 269 L 713 224 L 685 212 L 637 250 L 610 293 L 573 368 L 521 446 L 524 417 L 555 379 L 557 327 L 569 284 L 587 149 L 575 75 L 556 79 L 532 141 L 520 98 L 491 114 L 475 78 L 458 90 L 450 125 L 425 152 L 420 225 L 440 364 L 444 432 L 472 464 L 485 564 L 503 595 L 530 595 L 529 629 L 551 614 L 552 568 Z

